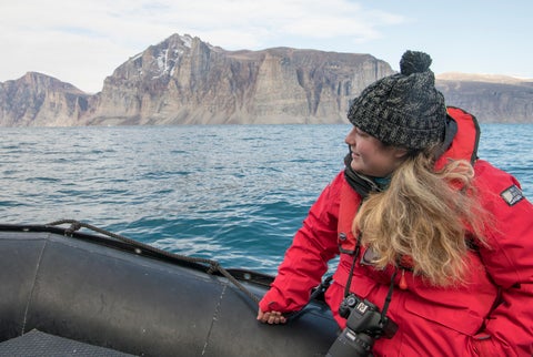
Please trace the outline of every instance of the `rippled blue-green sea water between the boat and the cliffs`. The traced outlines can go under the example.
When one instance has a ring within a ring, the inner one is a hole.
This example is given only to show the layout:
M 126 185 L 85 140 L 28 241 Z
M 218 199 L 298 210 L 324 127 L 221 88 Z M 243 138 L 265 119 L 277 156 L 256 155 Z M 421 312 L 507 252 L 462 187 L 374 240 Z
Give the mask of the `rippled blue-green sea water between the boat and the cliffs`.
M 480 157 L 533 197 L 533 124 L 482 124 Z M 350 125 L 0 129 L 0 223 L 71 218 L 274 274 Z

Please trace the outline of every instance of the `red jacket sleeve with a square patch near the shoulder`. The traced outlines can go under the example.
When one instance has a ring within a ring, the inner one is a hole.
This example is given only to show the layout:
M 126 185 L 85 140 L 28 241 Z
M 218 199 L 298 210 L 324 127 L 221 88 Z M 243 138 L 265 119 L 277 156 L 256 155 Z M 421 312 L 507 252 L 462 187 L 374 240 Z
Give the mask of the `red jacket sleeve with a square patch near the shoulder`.
M 490 247 L 480 247 L 480 255 L 501 296 L 476 336 L 477 349 L 482 356 L 532 356 L 533 205 L 516 178 L 489 163 L 480 166 L 477 187 L 492 214 Z

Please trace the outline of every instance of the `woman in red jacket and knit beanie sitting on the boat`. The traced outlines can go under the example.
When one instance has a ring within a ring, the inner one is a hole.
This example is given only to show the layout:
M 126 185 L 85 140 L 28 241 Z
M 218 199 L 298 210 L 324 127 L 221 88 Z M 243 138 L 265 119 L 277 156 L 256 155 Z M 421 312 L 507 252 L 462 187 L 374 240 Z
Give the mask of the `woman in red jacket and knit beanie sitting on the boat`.
M 346 167 L 294 236 L 258 319 L 283 324 L 340 254 L 325 293 L 335 320 L 352 294 L 398 330 L 374 356 L 532 356 L 533 206 L 519 182 L 477 160 L 475 119 L 446 108 L 431 58 L 351 104 Z

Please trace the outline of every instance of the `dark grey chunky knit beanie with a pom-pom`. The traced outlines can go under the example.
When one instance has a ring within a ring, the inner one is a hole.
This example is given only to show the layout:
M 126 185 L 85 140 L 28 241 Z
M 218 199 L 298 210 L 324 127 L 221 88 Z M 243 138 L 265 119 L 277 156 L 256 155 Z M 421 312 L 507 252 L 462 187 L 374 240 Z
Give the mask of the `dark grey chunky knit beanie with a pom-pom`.
M 441 142 L 446 106 L 430 65 L 429 54 L 406 51 L 400 73 L 370 84 L 353 100 L 350 122 L 389 145 L 421 150 Z

